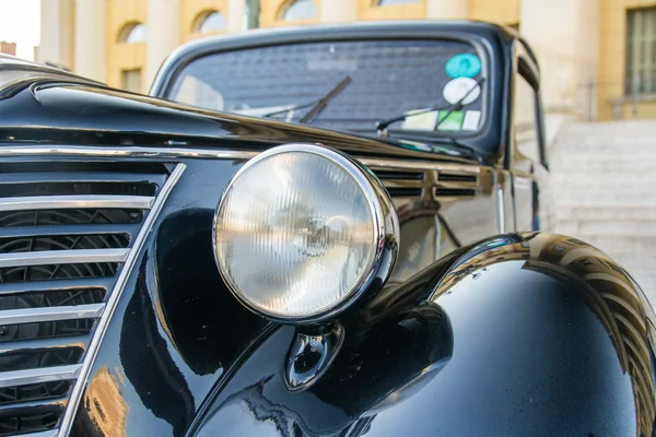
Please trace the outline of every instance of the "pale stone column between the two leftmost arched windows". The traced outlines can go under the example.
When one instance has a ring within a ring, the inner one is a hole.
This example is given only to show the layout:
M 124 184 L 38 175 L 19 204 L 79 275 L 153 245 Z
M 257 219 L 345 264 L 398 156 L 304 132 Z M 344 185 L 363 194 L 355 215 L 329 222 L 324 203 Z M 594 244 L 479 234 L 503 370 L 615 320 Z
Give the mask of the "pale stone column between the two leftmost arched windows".
M 179 0 L 148 0 L 145 44 L 145 90 L 150 87 L 162 62 L 180 42 Z

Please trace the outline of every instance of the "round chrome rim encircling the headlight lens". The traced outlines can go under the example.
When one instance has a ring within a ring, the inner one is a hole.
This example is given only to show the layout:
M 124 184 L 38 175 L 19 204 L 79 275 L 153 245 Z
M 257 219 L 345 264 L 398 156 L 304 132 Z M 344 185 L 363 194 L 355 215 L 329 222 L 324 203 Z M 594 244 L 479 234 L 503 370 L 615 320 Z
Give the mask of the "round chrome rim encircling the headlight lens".
M 239 287 L 234 283 L 230 274 L 227 274 L 222 268 L 223 262 L 219 250 L 219 245 L 222 239 L 218 233 L 219 220 L 221 216 L 223 202 L 227 198 L 233 185 L 251 166 L 271 156 L 283 153 L 315 154 L 340 166 L 355 180 L 359 188 L 362 190 L 368 210 L 372 214 L 373 227 L 375 232 L 374 240 L 376 244 L 376 251 L 366 273 L 361 275 L 355 285 L 351 287 L 350 292 L 345 293 L 340 299 L 336 300 L 329 308 L 309 312 L 303 316 L 280 316 L 278 314 L 271 314 L 262 310 L 261 308 L 258 308 L 249 303 L 248 299 L 242 296 Z M 378 292 L 389 277 L 396 262 L 398 255 L 398 241 L 399 222 L 396 210 L 394 208 L 391 198 L 378 178 L 355 158 L 323 144 L 289 143 L 273 146 L 250 158 L 235 173 L 230 182 L 225 186 L 216 209 L 214 210 L 212 223 L 212 250 L 214 252 L 214 261 L 221 277 L 232 295 L 251 312 L 281 324 L 320 324 L 327 320 L 336 319 L 339 315 L 353 307 L 353 305 L 361 300 L 364 295 L 373 295 Z M 376 284 L 378 286 L 375 286 Z

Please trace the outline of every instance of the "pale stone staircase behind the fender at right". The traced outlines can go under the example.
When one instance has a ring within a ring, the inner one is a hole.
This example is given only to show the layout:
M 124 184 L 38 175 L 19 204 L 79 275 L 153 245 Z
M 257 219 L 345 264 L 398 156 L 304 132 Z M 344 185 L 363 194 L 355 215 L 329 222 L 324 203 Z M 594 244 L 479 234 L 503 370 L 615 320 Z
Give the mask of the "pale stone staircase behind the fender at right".
M 607 252 L 656 305 L 656 120 L 565 123 L 550 162 L 553 231 Z

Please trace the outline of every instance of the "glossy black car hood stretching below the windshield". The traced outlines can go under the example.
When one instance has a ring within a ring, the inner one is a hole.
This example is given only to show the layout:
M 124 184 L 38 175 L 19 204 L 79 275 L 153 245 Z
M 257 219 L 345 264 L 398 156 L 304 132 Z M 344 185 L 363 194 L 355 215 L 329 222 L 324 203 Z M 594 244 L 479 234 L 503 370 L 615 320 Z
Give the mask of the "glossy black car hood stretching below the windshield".
M 42 76 L 0 85 L 0 139 L 98 145 L 229 146 L 262 150 L 321 143 L 355 155 L 481 162 L 447 139 L 402 141 L 202 110 L 89 82 Z

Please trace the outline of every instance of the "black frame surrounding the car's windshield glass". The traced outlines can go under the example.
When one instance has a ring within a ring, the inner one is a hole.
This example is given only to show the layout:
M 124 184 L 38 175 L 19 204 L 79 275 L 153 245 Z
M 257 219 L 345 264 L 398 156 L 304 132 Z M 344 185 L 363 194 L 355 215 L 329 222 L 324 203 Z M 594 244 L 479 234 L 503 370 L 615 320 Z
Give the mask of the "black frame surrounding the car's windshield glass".
M 341 27 L 341 28 L 340 28 Z M 171 93 L 185 68 L 199 58 L 235 50 L 248 50 L 290 44 L 360 42 L 360 40 L 454 40 L 470 44 L 479 54 L 481 75 L 485 86 L 481 97 L 485 110 L 479 129 L 473 132 L 425 131 L 390 127 L 391 138 L 423 138 L 441 143 L 457 141 L 485 155 L 499 156 L 507 137 L 509 96 L 505 95 L 512 76 L 512 46 L 516 35 L 501 26 L 488 23 L 454 22 L 445 24 L 431 21 L 409 21 L 390 24 L 359 23 L 342 26 L 305 26 L 283 29 L 258 29 L 234 36 L 210 37 L 178 48 L 165 61 L 155 78 L 151 95 L 171 99 Z M 221 114 L 233 114 L 218 111 Z M 235 114 L 237 115 L 237 114 Z M 283 122 L 282 120 L 280 120 Z M 320 126 L 316 126 L 321 128 Z M 368 133 L 363 129 L 344 129 L 343 132 Z M 372 123 L 371 134 L 375 134 Z

